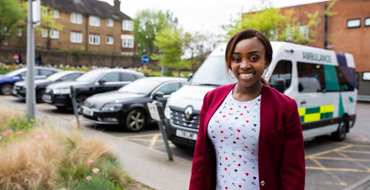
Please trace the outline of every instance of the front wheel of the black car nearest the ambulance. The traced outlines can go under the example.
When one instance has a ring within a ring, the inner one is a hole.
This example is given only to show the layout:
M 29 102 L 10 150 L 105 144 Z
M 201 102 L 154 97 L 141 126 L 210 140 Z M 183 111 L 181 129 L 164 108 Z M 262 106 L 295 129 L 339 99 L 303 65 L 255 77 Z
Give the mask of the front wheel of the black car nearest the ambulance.
M 146 123 L 147 121 L 144 111 L 133 109 L 127 114 L 125 128 L 128 131 L 139 131 L 146 125 Z

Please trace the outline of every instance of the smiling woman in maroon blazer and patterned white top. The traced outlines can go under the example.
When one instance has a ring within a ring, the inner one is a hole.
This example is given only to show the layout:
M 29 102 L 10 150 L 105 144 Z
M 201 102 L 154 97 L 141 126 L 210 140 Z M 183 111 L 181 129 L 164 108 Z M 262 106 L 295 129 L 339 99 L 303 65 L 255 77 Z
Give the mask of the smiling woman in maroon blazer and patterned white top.
M 238 82 L 204 96 L 189 190 L 303 190 L 296 101 L 264 79 L 272 60 L 269 40 L 253 29 L 237 32 L 225 60 Z

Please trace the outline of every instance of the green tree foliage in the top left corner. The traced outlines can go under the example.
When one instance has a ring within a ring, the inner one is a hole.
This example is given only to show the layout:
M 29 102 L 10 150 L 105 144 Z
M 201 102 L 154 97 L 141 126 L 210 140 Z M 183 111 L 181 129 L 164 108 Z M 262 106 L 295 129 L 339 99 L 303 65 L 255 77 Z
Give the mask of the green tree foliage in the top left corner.
M 19 0 L 0 0 L 0 43 L 15 31 L 11 29 L 25 17 Z

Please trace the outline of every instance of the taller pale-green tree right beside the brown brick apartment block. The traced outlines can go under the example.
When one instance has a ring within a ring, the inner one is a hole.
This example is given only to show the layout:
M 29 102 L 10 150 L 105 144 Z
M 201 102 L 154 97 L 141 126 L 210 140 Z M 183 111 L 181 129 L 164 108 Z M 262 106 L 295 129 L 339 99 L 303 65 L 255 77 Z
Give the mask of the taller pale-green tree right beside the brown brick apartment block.
M 171 30 L 177 26 L 177 18 L 173 18 L 170 11 L 142 10 L 134 19 L 135 43 L 138 44 L 137 53 L 140 55 L 158 54 L 158 48 L 154 46 L 156 33 L 162 30 Z

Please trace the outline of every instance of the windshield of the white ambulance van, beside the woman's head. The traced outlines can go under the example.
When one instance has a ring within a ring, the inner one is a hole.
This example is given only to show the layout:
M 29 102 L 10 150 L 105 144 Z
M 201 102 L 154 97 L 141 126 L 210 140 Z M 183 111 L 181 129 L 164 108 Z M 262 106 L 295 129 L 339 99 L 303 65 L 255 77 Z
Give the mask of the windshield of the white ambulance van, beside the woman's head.
M 237 82 L 226 73 L 226 63 L 223 56 L 207 58 L 191 78 L 194 86 L 223 86 Z

